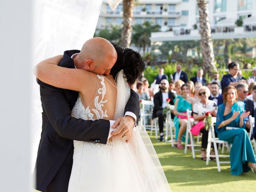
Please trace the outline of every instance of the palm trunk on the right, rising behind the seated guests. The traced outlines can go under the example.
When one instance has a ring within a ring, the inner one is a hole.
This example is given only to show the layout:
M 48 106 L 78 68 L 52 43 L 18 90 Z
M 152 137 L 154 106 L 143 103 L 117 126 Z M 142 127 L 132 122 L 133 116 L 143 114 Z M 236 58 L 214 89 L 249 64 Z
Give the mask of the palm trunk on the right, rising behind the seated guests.
M 212 36 L 210 29 L 210 19 L 207 0 L 197 0 L 199 19 L 200 19 L 200 50 L 203 58 L 203 70 L 212 76 L 212 71 L 216 69 L 216 63 L 214 61 L 214 52 L 212 46 Z

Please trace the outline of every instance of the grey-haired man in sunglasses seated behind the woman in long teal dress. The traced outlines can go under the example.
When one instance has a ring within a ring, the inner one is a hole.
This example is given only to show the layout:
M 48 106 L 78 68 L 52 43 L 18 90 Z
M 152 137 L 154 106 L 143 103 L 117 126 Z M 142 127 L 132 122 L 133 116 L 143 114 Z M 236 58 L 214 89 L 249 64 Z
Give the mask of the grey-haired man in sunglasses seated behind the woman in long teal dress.
M 236 86 L 236 91 L 238 95 L 238 101 L 244 102 L 246 112 L 249 111 L 250 115 L 254 117 L 255 108 L 254 108 L 253 101 L 246 99 L 246 96 L 248 94 L 248 85 L 246 83 L 240 82 Z M 245 119 L 245 127 L 246 127 L 246 130 L 250 131 L 251 126 L 250 126 L 249 118 Z

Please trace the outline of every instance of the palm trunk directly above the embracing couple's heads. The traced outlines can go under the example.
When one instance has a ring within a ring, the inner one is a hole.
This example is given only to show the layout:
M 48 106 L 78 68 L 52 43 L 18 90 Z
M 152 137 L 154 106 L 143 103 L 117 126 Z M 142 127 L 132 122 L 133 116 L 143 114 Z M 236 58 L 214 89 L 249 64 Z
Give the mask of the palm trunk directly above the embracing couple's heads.
M 132 18 L 133 18 L 134 0 L 123 0 L 123 28 L 121 37 L 121 46 L 130 47 L 132 39 Z

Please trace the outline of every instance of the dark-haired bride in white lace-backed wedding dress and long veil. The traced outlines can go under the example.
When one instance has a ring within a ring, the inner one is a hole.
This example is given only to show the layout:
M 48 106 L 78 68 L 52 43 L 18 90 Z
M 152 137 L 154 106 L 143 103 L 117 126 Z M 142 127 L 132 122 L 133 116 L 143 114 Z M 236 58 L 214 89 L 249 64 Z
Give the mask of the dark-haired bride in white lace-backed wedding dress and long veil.
M 115 48 L 121 59 L 109 75 L 57 66 L 62 56 L 56 56 L 40 62 L 36 76 L 52 86 L 79 91 L 72 116 L 84 120 L 116 120 L 124 114 L 130 97 L 129 84 L 140 76 L 144 63 L 128 63 L 127 58 L 132 55 L 140 57 L 138 52 Z M 112 138 L 106 145 L 74 141 L 68 191 L 168 192 L 170 187 L 145 129 L 138 126 L 130 143 Z

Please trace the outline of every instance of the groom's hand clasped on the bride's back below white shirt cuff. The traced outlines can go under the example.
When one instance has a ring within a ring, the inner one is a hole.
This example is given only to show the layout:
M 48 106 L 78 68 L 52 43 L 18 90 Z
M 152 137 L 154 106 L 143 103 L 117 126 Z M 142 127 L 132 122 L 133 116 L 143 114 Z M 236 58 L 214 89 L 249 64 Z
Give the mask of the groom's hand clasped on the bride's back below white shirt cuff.
M 130 142 L 132 138 L 132 129 L 134 128 L 135 120 L 131 116 L 120 117 L 113 124 L 112 128 L 116 128 L 115 131 L 111 133 L 112 139 L 124 138 L 126 142 Z

